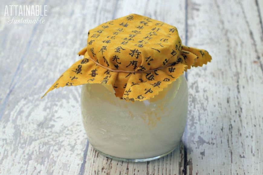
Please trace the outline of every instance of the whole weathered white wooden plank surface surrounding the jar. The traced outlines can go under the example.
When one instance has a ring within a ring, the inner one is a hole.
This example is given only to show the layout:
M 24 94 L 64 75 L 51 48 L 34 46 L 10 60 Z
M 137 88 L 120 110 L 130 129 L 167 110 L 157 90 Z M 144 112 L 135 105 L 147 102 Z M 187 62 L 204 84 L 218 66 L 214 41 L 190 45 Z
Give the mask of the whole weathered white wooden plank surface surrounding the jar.
M 47 5 L 45 24 L 0 18 L 0 174 L 263 174 L 262 1 L 3 1 Z M 2 11 L 1 11 L 2 12 Z M 114 161 L 86 138 L 80 87 L 51 92 L 87 31 L 137 13 L 176 26 L 212 63 L 187 72 L 183 144 L 159 160 Z

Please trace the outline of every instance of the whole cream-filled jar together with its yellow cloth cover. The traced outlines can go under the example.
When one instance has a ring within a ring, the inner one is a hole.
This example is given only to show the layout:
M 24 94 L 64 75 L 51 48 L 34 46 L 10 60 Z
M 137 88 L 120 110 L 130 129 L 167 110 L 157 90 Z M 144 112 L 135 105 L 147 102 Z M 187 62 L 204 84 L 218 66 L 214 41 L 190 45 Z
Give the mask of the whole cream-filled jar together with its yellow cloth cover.
M 96 150 L 140 162 L 177 147 L 187 120 L 183 72 L 210 62 L 206 50 L 183 46 L 172 25 L 130 14 L 90 29 L 78 55 L 46 94 L 82 85 L 83 125 Z

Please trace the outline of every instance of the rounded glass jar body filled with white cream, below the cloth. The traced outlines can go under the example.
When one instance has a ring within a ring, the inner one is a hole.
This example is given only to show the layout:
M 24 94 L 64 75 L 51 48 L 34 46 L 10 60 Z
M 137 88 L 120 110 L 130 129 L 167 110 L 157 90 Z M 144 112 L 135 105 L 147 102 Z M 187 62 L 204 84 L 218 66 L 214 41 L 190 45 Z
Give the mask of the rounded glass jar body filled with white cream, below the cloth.
M 150 161 L 172 152 L 187 121 L 184 75 L 150 100 L 126 101 L 111 86 L 85 84 L 81 91 L 83 125 L 90 144 L 109 158 Z

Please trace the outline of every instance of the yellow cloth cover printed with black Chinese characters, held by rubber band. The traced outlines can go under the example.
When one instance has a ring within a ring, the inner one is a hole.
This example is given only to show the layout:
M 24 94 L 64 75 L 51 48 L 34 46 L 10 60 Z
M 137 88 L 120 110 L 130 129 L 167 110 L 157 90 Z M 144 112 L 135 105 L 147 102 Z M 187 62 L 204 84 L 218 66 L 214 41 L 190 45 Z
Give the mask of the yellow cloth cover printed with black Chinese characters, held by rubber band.
M 88 83 L 112 85 L 116 97 L 147 100 L 191 66 L 211 61 L 206 50 L 183 46 L 177 28 L 130 14 L 89 30 L 84 55 L 49 88 Z

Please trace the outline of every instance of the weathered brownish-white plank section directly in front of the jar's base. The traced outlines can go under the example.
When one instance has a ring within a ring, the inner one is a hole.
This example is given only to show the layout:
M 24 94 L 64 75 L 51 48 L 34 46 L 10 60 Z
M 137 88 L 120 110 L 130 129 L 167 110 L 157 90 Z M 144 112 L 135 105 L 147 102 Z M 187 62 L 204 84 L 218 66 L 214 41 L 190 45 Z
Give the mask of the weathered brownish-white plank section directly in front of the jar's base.
M 131 163 L 115 161 L 99 154 L 92 146 L 89 147 L 85 173 L 83 174 L 179 174 L 182 161 L 180 155 L 183 148 L 177 149 L 164 158 L 154 161 Z

